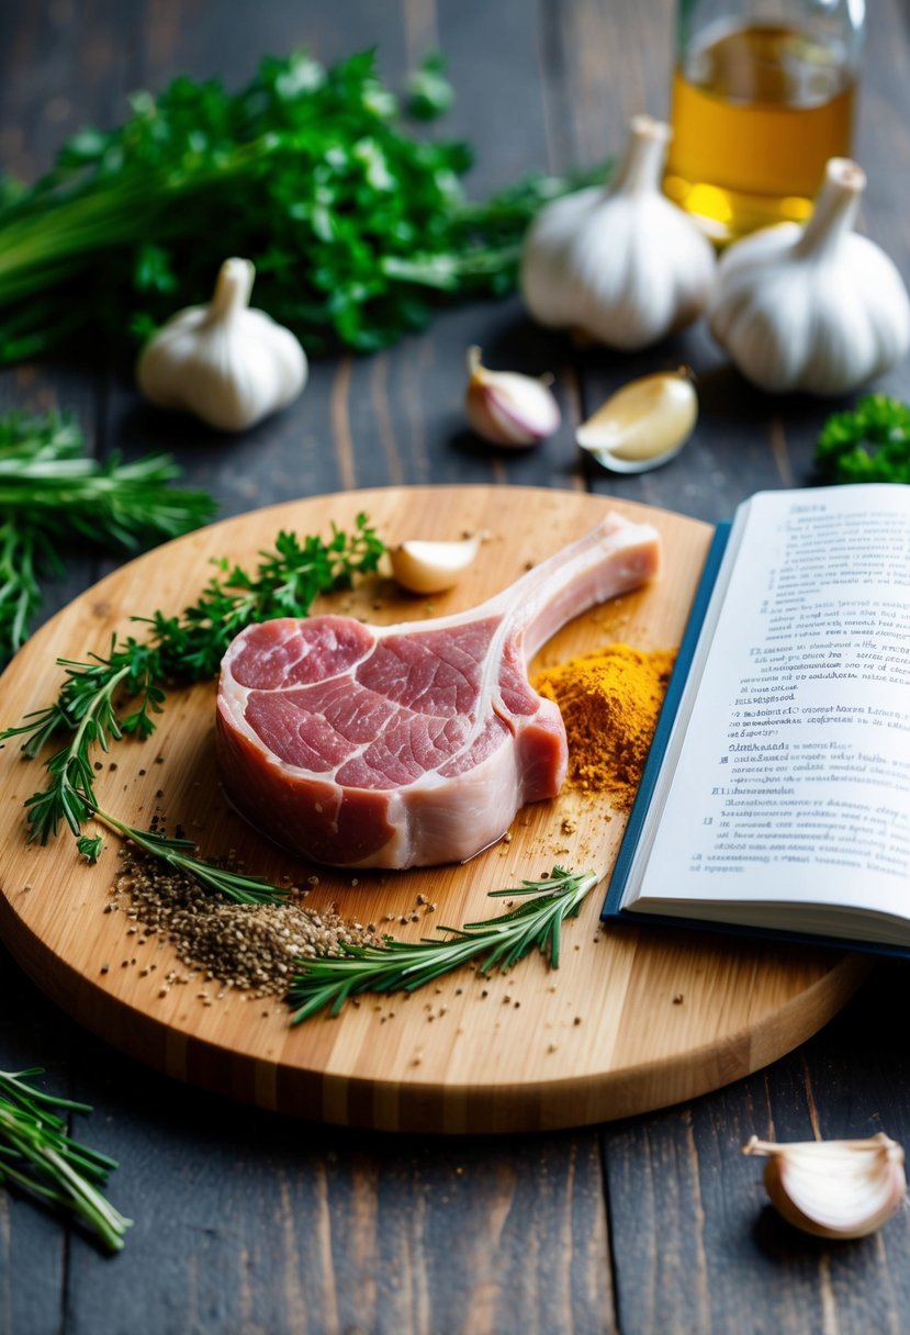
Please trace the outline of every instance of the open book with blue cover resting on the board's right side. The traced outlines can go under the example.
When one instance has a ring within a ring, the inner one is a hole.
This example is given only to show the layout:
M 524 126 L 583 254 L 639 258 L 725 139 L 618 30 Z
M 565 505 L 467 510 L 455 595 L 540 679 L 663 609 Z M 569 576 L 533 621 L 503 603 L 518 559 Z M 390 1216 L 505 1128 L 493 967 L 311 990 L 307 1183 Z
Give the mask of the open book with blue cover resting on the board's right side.
M 603 917 L 910 955 L 910 487 L 718 530 Z

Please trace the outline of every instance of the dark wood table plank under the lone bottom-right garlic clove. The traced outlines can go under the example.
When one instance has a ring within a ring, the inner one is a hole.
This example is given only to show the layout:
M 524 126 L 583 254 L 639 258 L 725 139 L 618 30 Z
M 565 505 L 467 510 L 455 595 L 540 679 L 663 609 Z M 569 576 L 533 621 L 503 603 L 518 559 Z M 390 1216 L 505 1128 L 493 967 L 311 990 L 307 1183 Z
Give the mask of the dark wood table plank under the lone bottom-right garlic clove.
M 902 1330 L 907 1216 L 855 1243 L 807 1238 L 767 1204 L 757 1133 L 777 1140 L 909 1133 L 906 1061 L 881 1016 L 906 967 L 882 976 L 797 1053 L 729 1089 L 604 1128 L 620 1328 L 666 1332 Z

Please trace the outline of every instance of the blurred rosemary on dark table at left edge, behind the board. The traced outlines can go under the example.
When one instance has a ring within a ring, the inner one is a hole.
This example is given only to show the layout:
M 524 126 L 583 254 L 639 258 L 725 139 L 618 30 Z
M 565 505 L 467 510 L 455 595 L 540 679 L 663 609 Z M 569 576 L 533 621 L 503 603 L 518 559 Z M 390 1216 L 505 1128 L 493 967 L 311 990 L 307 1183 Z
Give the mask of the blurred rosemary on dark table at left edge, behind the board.
M 60 574 L 63 543 L 137 551 L 212 518 L 205 491 L 171 486 L 179 475 L 168 455 L 85 455 L 81 431 L 59 413 L 0 417 L 0 666 L 25 641 L 41 578 Z

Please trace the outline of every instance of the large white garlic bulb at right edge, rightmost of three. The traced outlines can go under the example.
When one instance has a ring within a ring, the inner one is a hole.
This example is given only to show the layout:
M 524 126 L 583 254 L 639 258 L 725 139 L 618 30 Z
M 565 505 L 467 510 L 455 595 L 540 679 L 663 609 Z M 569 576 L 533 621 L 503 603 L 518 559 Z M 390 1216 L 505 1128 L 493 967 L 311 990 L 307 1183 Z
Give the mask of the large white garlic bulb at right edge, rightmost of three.
M 805 228 L 781 223 L 730 247 L 709 323 L 763 390 L 842 394 L 910 347 L 910 300 L 887 255 L 851 231 L 866 176 L 833 158 Z

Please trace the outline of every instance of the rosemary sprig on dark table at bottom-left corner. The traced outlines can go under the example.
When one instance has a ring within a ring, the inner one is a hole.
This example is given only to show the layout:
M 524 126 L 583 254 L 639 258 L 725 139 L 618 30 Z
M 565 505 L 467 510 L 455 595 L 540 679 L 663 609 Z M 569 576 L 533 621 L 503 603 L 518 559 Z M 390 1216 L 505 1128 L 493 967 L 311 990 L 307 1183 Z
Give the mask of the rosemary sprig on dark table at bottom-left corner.
M 69 1136 L 55 1109 L 92 1109 L 28 1083 L 28 1077 L 39 1075 L 41 1067 L 0 1071 L 0 1181 L 73 1211 L 105 1247 L 119 1251 L 132 1220 L 124 1219 L 99 1189 L 116 1161 Z

